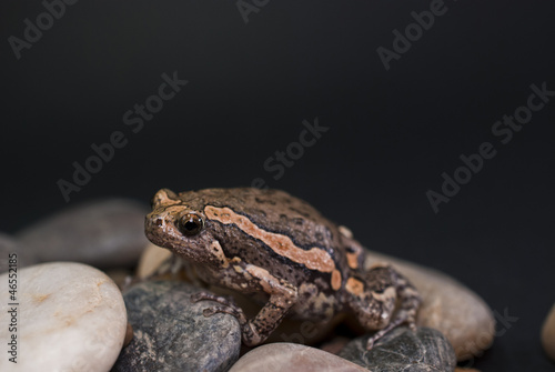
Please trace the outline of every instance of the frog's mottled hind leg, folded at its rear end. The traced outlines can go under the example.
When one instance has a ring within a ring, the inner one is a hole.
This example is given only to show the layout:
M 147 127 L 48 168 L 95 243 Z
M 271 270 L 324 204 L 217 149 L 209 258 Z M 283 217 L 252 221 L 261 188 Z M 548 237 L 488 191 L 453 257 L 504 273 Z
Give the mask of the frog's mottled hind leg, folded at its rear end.
M 379 330 L 366 344 L 370 350 L 380 338 L 402 323 L 415 330 L 416 312 L 422 302 L 416 289 L 390 265 L 370 269 L 361 280 L 349 278 L 345 289 L 351 294 L 349 305 L 361 324 L 369 330 Z M 395 303 L 400 309 L 395 313 Z

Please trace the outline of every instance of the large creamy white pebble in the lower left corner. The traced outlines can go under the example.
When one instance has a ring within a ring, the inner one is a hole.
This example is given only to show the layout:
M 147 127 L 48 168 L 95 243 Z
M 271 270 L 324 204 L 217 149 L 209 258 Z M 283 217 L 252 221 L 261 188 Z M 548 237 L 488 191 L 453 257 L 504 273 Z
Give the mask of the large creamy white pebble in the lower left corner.
M 0 340 L 17 336 L 16 370 L 109 371 L 127 326 L 123 298 L 112 280 L 74 262 L 37 264 L 17 274 L 16 298 L 0 303 L 0 323 L 6 325 L 0 328 Z M 9 293 L 8 273 L 0 275 L 0 289 Z M 17 331 L 10 332 L 13 309 Z M 0 371 L 11 371 L 16 364 L 9 358 L 14 355 L 3 353 Z

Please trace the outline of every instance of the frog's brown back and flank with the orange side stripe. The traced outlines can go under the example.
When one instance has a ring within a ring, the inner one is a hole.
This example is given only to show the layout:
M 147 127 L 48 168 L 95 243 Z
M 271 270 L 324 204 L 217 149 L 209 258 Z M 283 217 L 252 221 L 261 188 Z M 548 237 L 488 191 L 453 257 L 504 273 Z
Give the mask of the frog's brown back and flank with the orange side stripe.
M 193 209 L 220 213 L 206 214 L 209 229 L 229 258 L 238 257 L 295 285 L 323 277 L 329 283 L 333 271 L 334 278 L 346 274 L 335 270 L 345 267 L 337 227 L 284 191 L 204 189 L 179 198 Z

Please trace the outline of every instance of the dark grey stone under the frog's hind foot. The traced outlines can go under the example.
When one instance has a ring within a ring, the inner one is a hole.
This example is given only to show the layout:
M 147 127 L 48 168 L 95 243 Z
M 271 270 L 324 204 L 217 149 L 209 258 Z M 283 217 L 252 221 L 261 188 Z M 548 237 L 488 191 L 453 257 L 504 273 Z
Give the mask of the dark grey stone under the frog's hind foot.
M 351 341 L 339 354 L 372 372 L 447 372 L 454 371 L 456 358 L 453 346 L 440 332 L 418 328 L 412 332 L 397 328 L 366 350 L 370 335 Z

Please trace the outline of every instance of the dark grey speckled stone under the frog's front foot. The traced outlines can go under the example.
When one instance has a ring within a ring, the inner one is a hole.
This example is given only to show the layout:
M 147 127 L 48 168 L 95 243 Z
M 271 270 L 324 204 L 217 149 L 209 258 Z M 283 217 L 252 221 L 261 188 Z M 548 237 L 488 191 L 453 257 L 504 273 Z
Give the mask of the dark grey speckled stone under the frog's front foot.
M 124 294 L 133 340 L 112 371 L 228 371 L 239 358 L 239 322 L 204 316 L 210 301 L 192 303 L 199 289 L 176 281 L 147 281 Z

